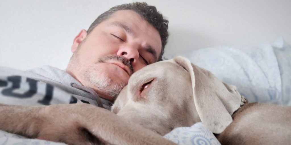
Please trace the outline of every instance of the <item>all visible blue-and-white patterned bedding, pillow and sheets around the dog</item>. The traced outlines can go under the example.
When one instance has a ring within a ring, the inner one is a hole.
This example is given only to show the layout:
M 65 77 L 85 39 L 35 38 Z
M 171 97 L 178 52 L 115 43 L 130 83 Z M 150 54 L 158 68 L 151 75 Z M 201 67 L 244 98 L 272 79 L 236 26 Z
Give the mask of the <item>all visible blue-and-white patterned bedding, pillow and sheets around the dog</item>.
M 283 38 L 253 48 L 220 46 L 188 52 L 185 57 L 210 70 L 221 81 L 237 86 L 249 102 L 291 105 L 291 47 Z M 164 136 L 180 145 L 220 144 L 201 122 L 175 128 Z M 0 131 L 0 144 L 60 145 Z

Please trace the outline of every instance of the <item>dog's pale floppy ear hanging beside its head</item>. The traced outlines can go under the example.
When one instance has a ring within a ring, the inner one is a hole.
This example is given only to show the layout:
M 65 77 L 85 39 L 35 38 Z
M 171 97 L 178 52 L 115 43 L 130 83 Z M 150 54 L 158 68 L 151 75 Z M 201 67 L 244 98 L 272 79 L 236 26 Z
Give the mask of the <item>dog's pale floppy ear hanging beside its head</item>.
M 212 133 L 221 133 L 233 121 L 231 115 L 242 102 L 236 87 L 222 83 L 210 71 L 191 64 L 184 57 L 173 60 L 190 73 L 200 120 Z

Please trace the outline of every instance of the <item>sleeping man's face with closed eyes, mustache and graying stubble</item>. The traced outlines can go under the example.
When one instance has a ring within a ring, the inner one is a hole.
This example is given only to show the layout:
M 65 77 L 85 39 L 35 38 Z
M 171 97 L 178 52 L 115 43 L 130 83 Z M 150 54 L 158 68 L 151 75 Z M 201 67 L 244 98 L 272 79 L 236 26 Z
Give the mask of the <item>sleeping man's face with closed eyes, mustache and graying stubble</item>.
M 101 97 L 114 100 L 133 72 L 157 61 L 161 49 L 153 26 L 134 11 L 119 10 L 89 35 L 81 30 L 67 72 Z

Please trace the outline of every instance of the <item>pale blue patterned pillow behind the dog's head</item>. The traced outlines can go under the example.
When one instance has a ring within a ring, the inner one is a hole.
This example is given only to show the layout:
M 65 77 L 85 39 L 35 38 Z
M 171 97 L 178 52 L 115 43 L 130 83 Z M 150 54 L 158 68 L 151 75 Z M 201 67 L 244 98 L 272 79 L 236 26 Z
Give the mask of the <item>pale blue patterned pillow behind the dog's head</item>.
M 220 46 L 184 56 L 221 81 L 235 85 L 249 102 L 291 105 L 291 48 L 282 38 L 253 48 Z

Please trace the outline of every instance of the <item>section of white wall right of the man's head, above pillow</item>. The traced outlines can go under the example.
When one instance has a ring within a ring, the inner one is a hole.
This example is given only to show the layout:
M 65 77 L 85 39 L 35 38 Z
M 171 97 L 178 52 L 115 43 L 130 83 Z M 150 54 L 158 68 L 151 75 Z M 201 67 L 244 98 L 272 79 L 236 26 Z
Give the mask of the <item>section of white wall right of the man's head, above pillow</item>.
M 291 44 L 290 0 L 146 1 L 168 17 L 165 56 L 214 46 L 251 47 L 280 36 Z

